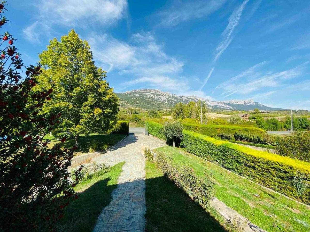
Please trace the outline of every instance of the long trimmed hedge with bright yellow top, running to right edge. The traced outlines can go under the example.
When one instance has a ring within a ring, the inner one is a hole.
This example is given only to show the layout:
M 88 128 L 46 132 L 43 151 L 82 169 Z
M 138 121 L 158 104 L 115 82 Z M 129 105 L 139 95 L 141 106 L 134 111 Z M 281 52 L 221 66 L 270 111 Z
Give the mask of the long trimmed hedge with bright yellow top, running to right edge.
M 301 200 L 310 203 L 308 162 L 253 150 L 186 130 L 183 131 L 181 146 L 205 160 L 293 198 L 298 196 L 293 184 L 294 177 L 302 173 L 308 189 Z

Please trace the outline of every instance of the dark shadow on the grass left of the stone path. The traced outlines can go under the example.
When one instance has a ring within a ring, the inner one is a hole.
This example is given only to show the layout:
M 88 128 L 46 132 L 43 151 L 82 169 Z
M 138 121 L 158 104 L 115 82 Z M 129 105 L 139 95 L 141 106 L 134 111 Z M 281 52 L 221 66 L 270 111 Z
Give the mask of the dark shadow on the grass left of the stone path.
M 64 212 L 59 231 L 92 231 L 102 209 L 107 206 L 116 184 L 108 185 L 110 178 L 100 180 L 81 192 L 78 200 L 69 204 Z

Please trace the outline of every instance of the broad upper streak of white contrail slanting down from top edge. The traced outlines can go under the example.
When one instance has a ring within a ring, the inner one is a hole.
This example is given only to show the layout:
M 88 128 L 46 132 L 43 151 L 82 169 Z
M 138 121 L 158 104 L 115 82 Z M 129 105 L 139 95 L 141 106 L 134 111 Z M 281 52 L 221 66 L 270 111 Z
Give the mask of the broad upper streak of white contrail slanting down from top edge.
M 247 2 L 249 2 L 249 0 L 244 0 L 242 4 L 238 8 L 236 8 L 230 15 L 229 20 L 228 20 L 228 25 L 222 33 L 223 41 L 221 41 L 215 49 L 216 55 L 215 55 L 215 58 L 213 59 L 213 62 L 219 59 L 219 57 L 222 55 L 222 53 L 231 43 L 232 32 L 234 31 L 235 27 L 239 24 L 242 11 L 244 7 L 246 6 Z

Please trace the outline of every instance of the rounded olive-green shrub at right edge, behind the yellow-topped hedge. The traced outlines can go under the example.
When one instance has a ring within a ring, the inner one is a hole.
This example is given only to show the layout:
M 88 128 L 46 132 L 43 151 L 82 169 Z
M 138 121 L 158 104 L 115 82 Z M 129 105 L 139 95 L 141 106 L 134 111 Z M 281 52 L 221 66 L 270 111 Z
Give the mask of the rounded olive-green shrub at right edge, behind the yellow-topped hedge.
M 281 156 L 310 162 L 310 132 L 298 131 L 291 136 L 285 136 L 277 147 Z

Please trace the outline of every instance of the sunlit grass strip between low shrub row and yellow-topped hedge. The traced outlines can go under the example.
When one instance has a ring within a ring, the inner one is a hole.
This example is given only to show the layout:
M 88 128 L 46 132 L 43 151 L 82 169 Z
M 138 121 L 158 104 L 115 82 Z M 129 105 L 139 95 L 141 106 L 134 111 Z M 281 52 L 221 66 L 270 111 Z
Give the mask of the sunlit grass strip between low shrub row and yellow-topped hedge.
M 267 231 L 309 231 L 310 208 L 229 172 L 180 148 L 164 146 L 164 152 L 178 164 L 189 165 L 198 176 L 209 173 L 215 180 L 215 197 Z

